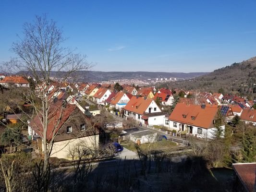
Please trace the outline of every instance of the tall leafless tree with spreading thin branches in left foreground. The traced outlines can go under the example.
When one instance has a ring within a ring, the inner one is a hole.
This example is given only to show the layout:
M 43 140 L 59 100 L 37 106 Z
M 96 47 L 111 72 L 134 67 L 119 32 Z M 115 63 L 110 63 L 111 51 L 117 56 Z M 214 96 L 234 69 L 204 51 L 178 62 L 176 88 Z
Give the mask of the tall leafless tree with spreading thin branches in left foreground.
M 10 62 L 6 63 L 7 68 L 14 69 L 16 72 L 23 71 L 32 76 L 37 84 L 37 94 L 31 90 L 27 100 L 34 108 L 34 113 L 29 118 L 33 119 L 35 115 L 41 117 L 40 127 L 42 130 L 40 132 L 43 144 L 44 171 L 49 168 L 52 146 L 55 136 L 60 131 L 58 126 L 65 110 L 65 108 L 61 109 L 58 121 L 51 132 L 52 136 L 51 138 L 47 137 L 49 109 L 54 101 L 50 98 L 51 93 L 49 92 L 52 77 L 65 83 L 70 81 L 76 72 L 86 70 L 91 66 L 86 62 L 85 56 L 75 54 L 73 49 L 62 47 L 65 40 L 62 30 L 57 27 L 56 22 L 48 20 L 46 15 L 36 16 L 33 23 L 24 24 L 23 37 L 19 37 L 19 41 L 12 45 L 11 50 L 17 54 L 17 58 L 12 58 Z M 61 90 L 55 89 L 55 91 L 60 92 Z M 39 98 L 39 107 L 35 103 L 37 97 Z

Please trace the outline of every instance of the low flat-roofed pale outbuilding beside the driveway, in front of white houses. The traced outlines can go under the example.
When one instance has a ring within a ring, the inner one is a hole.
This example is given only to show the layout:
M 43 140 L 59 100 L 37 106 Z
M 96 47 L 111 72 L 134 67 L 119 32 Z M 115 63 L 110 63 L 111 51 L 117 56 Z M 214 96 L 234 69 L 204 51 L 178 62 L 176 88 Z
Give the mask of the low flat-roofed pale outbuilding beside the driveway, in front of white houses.
M 157 140 L 157 133 L 141 127 L 126 129 L 119 135 L 119 142 L 132 141 L 136 144 L 153 143 Z

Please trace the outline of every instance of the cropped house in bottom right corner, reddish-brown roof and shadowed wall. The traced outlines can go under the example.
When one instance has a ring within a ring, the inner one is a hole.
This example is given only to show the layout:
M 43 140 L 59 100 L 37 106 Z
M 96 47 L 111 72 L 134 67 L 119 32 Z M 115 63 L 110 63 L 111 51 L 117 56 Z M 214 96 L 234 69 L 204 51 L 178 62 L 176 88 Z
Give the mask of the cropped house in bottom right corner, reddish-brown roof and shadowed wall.
M 234 183 L 236 192 L 255 192 L 256 163 L 234 163 L 232 165 L 236 173 Z

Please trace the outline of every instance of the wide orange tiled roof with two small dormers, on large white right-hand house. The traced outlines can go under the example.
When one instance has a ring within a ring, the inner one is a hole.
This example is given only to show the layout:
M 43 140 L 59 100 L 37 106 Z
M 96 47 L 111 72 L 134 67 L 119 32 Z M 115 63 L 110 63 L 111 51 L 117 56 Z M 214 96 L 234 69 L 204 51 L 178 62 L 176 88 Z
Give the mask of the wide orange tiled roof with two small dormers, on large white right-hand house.
M 183 118 L 183 115 L 185 115 L 186 118 Z M 195 120 L 192 120 L 192 117 L 195 117 Z M 215 127 L 213 125 L 213 120 L 217 119 L 217 117 L 217 107 L 206 106 L 205 108 L 202 108 L 199 105 L 177 103 L 169 120 L 208 129 Z

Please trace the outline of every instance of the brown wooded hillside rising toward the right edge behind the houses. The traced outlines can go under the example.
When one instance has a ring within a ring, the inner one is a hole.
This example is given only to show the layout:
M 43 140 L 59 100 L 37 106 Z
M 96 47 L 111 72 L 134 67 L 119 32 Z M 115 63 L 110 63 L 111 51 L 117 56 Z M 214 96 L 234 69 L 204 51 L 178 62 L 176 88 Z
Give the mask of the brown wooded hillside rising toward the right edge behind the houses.
M 164 84 L 159 86 L 164 86 Z M 233 63 L 192 80 L 169 83 L 165 86 L 212 92 L 217 92 L 222 88 L 226 93 L 239 93 L 242 96 L 253 94 L 255 96 L 256 57 L 240 63 Z

